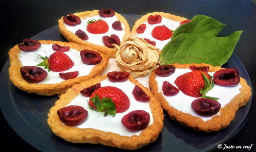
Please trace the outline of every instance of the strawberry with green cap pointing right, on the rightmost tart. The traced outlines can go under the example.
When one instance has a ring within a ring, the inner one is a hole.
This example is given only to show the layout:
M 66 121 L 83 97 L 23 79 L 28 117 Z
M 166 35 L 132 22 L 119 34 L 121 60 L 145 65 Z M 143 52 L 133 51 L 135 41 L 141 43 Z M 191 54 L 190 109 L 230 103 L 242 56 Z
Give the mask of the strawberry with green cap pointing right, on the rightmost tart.
M 199 70 L 180 75 L 174 83 L 180 91 L 192 97 L 207 97 L 206 92 L 214 86 L 210 75 Z

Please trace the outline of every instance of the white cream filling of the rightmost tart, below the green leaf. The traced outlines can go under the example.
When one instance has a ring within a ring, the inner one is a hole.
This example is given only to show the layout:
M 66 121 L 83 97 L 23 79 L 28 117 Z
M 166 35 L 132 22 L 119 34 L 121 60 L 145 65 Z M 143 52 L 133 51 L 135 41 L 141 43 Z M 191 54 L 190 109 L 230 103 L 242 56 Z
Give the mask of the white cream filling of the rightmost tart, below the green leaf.
M 179 75 L 182 75 L 184 73 L 190 72 L 190 69 L 176 69 L 175 72 L 172 75 L 169 75 L 168 77 L 159 77 L 156 75 L 156 81 L 158 86 L 158 92 L 163 95 L 165 100 L 169 103 L 170 107 L 174 107 L 178 111 L 181 111 L 183 113 L 190 114 L 192 116 L 200 117 L 203 121 L 210 120 L 211 117 L 202 117 L 196 114 L 193 109 L 191 108 L 191 103 L 196 99 L 195 97 L 191 97 L 188 95 L 185 95 L 183 92 L 179 91 L 179 93 L 175 96 L 165 96 L 162 91 L 162 85 L 164 81 L 167 81 L 177 87 L 174 83 L 177 77 Z M 209 72 L 210 75 L 213 75 L 214 72 Z M 177 87 L 178 88 L 178 87 Z M 241 85 L 237 85 L 236 87 L 222 87 L 219 85 L 215 85 L 214 88 L 209 90 L 207 92 L 207 96 L 212 97 L 219 97 L 218 102 L 221 104 L 221 107 L 224 107 L 226 104 L 230 102 L 230 100 L 240 93 Z M 216 115 L 220 115 L 220 112 L 218 112 Z

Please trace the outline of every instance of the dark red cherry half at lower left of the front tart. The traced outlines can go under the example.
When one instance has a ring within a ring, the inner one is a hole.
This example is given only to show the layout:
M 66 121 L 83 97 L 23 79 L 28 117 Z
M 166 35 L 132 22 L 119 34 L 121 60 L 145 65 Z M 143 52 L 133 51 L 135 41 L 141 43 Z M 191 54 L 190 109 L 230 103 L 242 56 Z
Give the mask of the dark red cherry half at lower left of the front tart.
M 88 111 L 81 106 L 68 106 L 57 111 L 60 121 L 69 126 L 82 124 L 88 118 Z

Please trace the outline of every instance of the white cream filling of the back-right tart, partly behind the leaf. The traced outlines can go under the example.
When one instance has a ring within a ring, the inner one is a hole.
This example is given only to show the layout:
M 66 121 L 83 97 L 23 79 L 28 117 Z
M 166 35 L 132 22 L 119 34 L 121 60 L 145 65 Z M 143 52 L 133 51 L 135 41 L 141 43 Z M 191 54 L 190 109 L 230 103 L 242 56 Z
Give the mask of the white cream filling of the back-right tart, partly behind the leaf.
M 146 29 L 144 31 L 144 33 L 137 33 L 136 35 L 138 35 L 141 38 L 147 38 L 150 39 L 151 41 L 155 41 L 156 42 L 156 47 L 159 48 L 159 50 L 162 50 L 164 45 L 167 44 L 171 38 L 164 40 L 164 41 L 160 41 L 157 40 L 155 38 L 152 37 L 151 32 L 152 30 L 157 27 L 157 26 L 163 26 L 165 25 L 167 28 L 169 28 L 170 30 L 175 31 L 179 26 L 180 26 L 180 22 L 179 21 L 174 21 L 174 20 L 170 20 L 167 18 L 163 18 L 162 17 L 162 21 L 160 23 L 156 23 L 156 24 L 149 24 L 148 22 L 143 22 L 146 24 Z

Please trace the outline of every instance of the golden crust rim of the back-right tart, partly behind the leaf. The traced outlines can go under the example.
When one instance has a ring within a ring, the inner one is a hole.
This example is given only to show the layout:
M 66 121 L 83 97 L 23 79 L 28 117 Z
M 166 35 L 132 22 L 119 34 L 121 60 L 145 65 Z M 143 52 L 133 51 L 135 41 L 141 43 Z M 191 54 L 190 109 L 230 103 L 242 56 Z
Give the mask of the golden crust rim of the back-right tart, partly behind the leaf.
M 183 21 L 183 20 L 186 20 L 186 18 L 184 18 L 184 17 L 180 17 L 180 16 L 176 16 L 176 15 L 169 14 L 169 13 L 164 13 L 164 12 L 147 13 L 146 15 L 143 15 L 140 19 L 138 19 L 138 20 L 135 22 L 131 33 L 132 33 L 132 34 L 136 34 L 137 28 L 138 28 L 143 22 L 146 22 L 146 21 L 147 21 L 147 18 L 148 18 L 150 15 L 156 15 L 156 14 L 160 15 L 160 16 L 163 17 L 163 18 L 167 18 L 167 19 L 174 20 L 174 21 Z M 159 55 L 160 55 L 161 50 L 158 50 L 158 53 L 159 53 Z

